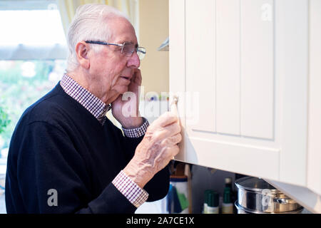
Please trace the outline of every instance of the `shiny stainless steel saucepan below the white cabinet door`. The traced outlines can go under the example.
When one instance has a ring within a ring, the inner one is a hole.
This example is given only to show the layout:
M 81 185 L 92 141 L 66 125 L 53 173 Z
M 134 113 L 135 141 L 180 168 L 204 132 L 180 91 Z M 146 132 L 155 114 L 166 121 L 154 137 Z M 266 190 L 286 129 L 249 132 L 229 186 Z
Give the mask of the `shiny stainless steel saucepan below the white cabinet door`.
M 257 177 L 243 177 L 235 181 L 238 201 L 235 207 L 249 213 L 298 213 L 303 207 Z

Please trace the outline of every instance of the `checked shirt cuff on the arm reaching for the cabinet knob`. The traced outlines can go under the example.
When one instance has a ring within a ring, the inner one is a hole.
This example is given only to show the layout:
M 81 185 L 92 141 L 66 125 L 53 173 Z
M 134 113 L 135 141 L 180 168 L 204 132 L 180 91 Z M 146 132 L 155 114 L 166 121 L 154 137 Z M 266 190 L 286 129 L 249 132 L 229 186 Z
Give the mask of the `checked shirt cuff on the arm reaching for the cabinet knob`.
M 118 173 L 112 183 L 135 207 L 141 206 L 148 199 L 148 193 L 133 182 L 123 170 Z

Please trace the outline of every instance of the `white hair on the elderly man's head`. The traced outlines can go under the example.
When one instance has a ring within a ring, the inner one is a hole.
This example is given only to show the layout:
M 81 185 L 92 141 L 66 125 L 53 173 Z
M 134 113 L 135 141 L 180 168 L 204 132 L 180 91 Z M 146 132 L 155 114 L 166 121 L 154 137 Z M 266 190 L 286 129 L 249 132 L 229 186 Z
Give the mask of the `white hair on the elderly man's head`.
M 71 21 L 71 25 L 68 28 L 68 58 L 67 58 L 67 72 L 74 71 L 79 63 L 76 58 L 76 44 L 79 41 L 108 41 L 111 37 L 111 31 L 109 29 L 108 19 L 115 17 L 121 17 L 128 19 L 118 9 L 104 4 L 85 4 L 78 6 L 76 14 Z M 94 51 L 100 51 L 100 45 L 91 46 Z

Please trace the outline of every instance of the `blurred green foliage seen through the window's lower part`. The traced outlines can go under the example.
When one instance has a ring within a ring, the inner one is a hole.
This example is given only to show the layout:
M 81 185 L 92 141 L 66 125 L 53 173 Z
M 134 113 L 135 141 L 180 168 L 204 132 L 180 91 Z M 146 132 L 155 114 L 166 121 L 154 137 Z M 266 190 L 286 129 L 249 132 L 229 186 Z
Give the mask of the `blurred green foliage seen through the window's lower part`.
M 26 61 L 0 61 L 0 152 L 9 147 L 11 135 L 24 110 L 56 86 L 65 68 L 65 61 L 28 63 L 32 66 L 31 73 L 24 73 Z M 50 78 L 52 73 L 59 78 Z

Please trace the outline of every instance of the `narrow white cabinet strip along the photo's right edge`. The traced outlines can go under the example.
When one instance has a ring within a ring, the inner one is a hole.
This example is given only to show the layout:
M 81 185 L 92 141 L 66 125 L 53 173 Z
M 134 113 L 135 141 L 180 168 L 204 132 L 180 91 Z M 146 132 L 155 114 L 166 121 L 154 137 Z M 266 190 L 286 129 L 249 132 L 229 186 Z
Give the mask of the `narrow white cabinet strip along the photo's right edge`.
M 312 0 L 310 12 L 307 186 L 321 195 L 321 1 Z M 320 200 L 321 202 L 321 200 Z M 321 207 L 321 206 L 320 206 Z M 321 208 L 320 208 L 321 210 Z M 319 211 L 321 213 L 321 211 Z

